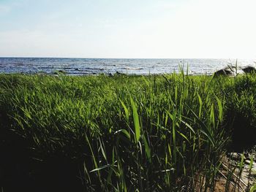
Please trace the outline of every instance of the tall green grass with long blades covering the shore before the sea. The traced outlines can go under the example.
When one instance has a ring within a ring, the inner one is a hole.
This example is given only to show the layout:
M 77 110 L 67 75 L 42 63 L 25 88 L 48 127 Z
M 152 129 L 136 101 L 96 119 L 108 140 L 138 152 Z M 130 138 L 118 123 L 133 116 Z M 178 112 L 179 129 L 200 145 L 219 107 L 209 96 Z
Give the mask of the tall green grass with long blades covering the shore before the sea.
M 214 191 L 229 147 L 255 144 L 255 93 L 253 74 L 0 74 L 2 185 Z

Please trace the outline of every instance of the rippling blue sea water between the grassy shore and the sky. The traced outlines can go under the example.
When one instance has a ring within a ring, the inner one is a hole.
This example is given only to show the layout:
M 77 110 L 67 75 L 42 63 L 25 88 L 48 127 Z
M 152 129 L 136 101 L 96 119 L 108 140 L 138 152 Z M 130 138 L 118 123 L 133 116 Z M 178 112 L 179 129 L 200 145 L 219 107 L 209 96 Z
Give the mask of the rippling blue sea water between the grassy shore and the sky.
M 238 66 L 255 66 L 253 60 L 238 59 Z M 62 70 L 70 75 L 83 74 L 166 74 L 180 66 L 189 74 L 212 74 L 236 59 L 138 59 L 138 58 L 0 58 L 0 73 L 53 74 Z

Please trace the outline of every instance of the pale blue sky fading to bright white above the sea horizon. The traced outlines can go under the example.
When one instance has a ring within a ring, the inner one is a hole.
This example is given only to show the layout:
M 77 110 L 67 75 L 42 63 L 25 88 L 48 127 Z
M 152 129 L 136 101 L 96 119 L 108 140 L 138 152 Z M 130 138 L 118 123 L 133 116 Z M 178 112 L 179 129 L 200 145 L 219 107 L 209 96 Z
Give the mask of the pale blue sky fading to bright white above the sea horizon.
M 256 58 L 255 0 L 0 0 L 0 57 Z

